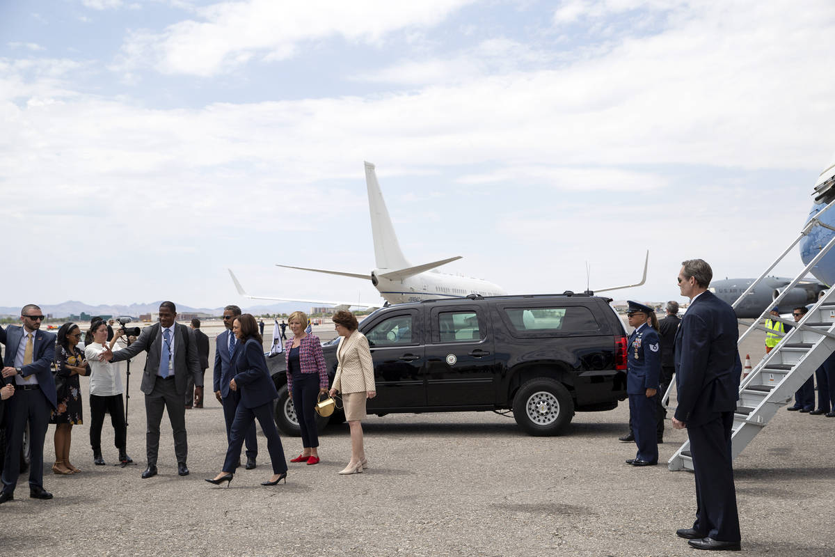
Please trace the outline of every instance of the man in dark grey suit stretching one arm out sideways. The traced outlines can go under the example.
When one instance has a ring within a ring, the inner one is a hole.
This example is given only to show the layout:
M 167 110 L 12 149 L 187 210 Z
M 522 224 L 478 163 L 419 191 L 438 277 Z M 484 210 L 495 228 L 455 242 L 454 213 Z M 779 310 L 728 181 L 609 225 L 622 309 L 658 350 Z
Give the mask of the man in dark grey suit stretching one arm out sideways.
M 189 327 L 175 322 L 177 307 L 173 301 L 159 304 L 159 323 L 145 327 L 129 347 L 117 352 L 102 352 L 103 362 L 121 362 L 147 352 L 142 383 L 139 389 L 145 393 L 145 418 L 148 428 L 145 433 L 145 451 L 148 454 L 148 468 L 143 478 L 157 474 L 157 453 L 159 452 L 159 423 L 164 409 L 168 410 L 171 429 L 174 432 L 174 452 L 177 457 L 177 473 L 187 476 L 185 465 L 189 447 L 185 433 L 185 386 L 189 376 L 195 384 L 200 382 L 200 357 L 197 356 L 197 342 Z

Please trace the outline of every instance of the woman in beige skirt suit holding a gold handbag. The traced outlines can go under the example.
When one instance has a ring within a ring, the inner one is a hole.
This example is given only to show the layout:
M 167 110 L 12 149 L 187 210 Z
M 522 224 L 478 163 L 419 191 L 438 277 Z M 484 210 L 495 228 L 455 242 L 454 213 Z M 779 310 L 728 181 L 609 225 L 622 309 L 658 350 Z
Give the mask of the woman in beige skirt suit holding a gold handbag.
M 333 323 L 342 338 L 337 347 L 337 375 L 333 377 L 330 393 L 331 397 L 342 393 L 345 419 L 351 428 L 351 462 L 340 473 L 362 473 L 363 468 L 368 468 L 368 460 L 362 446 L 360 420 L 366 417 L 366 399 L 377 396 L 374 362 L 367 338 L 357 331 L 357 317 L 350 311 L 337 311 Z

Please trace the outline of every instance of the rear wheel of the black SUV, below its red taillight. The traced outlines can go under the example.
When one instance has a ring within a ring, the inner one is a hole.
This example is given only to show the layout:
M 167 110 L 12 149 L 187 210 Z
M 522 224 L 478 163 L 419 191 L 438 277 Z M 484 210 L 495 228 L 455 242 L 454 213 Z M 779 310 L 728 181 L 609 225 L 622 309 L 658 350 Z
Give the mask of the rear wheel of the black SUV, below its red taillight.
M 568 389 L 554 379 L 531 379 L 514 397 L 514 418 L 529 435 L 559 435 L 574 417 Z

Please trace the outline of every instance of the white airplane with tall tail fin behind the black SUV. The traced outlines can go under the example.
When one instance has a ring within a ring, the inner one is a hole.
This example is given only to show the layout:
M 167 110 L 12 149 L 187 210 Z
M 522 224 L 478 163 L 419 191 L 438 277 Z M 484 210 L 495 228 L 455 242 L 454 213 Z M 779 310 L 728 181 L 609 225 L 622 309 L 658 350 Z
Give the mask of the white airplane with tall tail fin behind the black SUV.
M 377 183 L 377 175 L 374 172 L 374 165 L 367 162 L 366 186 L 368 190 L 368 208 L 371 212 L 371 230 L 374 239 L 374 258 L 377 268 L 371 271 L 370 275 L 362 273 L 351 273 L 344 271 L 328 271 L 326 269 L 311 269 L 308 267 L 294 267 L 289 265 L 276 265 L 286 269 L 297 269 L 299 271 L 313 271 L 327 275 L 351 276 L 363 280 L 370 280 L 390 304 L 399 304 L 408 301 L 421 301 L 437 298 L 462 298 L 470 294 L 481 296 L 500 296 L 507 294 L 501 286 L 492 282 L 483 281 L 477 278 L 448 275 L 436 271 L 436 267 L 446 265 L 450 261 L 461 259 L 461 256 L 448 257 L 423 265 L 412 265 L 403 256 L 400 244 L 397 242 L 397 235 L 394 233 L 392 219 L 388 215 L 386 202 L 382 199 L 380 185 Z M 235 274 L 229 270 L 232 281 L 240 296 L 252 300 L 280 300 L 280 301 L 301 301 L 316 304 L 336 306 L 337 309 L 347 307 L 377 308 L 381 305 L 363 304 L 358 301 L 333 301 L 333 300 L 301 300 L 299 298 L 275 297 L 275 296 L 251 296 L 247 294 Z

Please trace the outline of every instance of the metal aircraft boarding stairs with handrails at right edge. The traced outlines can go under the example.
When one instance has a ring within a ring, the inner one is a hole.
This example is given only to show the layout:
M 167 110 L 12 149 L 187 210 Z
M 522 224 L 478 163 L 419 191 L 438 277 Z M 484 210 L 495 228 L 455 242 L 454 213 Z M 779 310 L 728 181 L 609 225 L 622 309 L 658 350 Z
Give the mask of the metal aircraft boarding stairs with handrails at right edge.
M 799 243 L 804 235 L 807 235 L 817 217 L 828 210 L 835 202 L 829 203 L 824 210 L 816 215 L 816 218 L 809 221 L 804 227 L 797 240 L 789 246 L 777 261 L 772 263 L 766 272 L 754 281 L 748 289 L 741 294 L 734 302 L 736 307 L 742 299 L 752 291 L 757 283 L 762 281 L 777 263 L 787 255 L 792 248 Z M 824 225 L 826 226 L 826 225 Z M 827 228 L 829 228 L 827 226 Z M 754 329 L 769 331 L 761 322 L 768 312 L 775 305 L 778 305 L 789 291 L 799 283 L 817 261 L 827 254 L 835 246 L 835 237 L 822 248 L 820 253 L 809 262 L 807 267 L 782 291 L 780 296 L 775 298 L 774 303 L 769 305 L 762 315 L 753 323 L 739 320 L 741 325 L 748 325 L 746 332 L 742 333 L 739 342 L 742 342 Z M 768 318 L 776 320 L 776 317 Z M 826 361 L 827 357 L 835 352 L 835 287 L 826 291 L 817 303 L 812 306 L 800 322 L 779 318 L 779 321 L 792 326 L 776 347 L 767 353 L 757 366 L 751 370 L 747 377 L 742 379 L 739 388 L 739 401 L 737 402 L 736 413 L 734 413 L 733 430 L 731 433 L 731 458 L 742 452 L 751 439 L 765 428 L 768 421 L 772 419 L 779 408 L 782 408 L 794 397 L 794 392 L 807 381 L 817 367 Z M 663 402 L 669 402 L 671 390 L 676 382 L 675 377 L 671 386 L 665 392 Z M 667 467 L 672 471 L 692 470 L 693 459 L 690 453 L 690 442 L 686 441 L 676 453 L 667 461 Z

